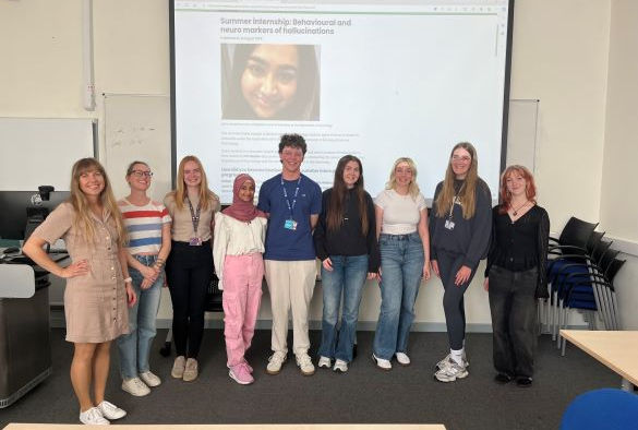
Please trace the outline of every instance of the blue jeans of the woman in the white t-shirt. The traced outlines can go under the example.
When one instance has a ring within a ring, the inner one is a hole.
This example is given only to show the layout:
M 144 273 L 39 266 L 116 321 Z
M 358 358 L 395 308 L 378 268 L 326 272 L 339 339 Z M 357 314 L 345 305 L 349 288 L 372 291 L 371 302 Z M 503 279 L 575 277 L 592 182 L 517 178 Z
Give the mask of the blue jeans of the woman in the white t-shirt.
M 418 232 L 381 235 L 381 312 L 372 350 L 389 360 L 406 353 L 414 302 L 423 275 L 423 242 Z

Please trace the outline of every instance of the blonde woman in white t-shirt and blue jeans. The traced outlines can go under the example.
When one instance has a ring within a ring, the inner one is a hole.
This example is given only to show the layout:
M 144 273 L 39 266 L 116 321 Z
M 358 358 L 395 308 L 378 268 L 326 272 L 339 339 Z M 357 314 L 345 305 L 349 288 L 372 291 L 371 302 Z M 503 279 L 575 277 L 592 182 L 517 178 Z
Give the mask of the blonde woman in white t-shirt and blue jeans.
M 393 357 L 410 365 L 408 336 L 421 279 L 430 278 L 428 206 L 411 158 L 395 162 L 386 189 L 374 201 L 381 250 L 381 312 L 372 359 L 390 370 Z

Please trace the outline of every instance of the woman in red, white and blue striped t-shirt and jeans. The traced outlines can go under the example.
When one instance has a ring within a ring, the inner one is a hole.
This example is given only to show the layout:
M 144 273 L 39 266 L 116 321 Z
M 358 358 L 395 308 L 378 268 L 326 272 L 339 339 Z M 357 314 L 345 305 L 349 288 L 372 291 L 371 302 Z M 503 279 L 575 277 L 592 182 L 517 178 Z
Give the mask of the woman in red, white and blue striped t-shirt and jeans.
M 164 204 L 146 195 L 152 178 L 146 163 L 131 163 L 127 169 L 131 193 L 118 202 L 129 234 L 129 273 L 137 295 L 137 303 L 129 309 L 129 334 L 118 338 L 118 347 L 122 390 L 134 396 L 145 396 L 149 386 L 161 383 L 151 371 L 148 355 L 170 252 L 170 215 Z

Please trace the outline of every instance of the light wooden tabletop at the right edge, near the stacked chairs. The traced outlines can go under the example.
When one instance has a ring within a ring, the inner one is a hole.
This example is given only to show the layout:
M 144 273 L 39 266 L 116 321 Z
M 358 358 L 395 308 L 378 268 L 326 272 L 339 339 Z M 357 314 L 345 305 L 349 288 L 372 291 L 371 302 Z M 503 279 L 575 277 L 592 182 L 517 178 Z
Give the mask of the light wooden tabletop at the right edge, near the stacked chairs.
M 561 336 L 623 377 L 623 390 L 638 385 L 638 332 L 561 330 Z

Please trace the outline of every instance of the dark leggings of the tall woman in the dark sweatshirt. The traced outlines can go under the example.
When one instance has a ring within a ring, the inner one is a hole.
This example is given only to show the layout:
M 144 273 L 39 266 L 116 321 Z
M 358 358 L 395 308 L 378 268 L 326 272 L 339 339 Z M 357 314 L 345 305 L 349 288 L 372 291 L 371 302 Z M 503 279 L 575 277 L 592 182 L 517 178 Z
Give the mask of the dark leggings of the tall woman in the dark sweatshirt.
M 462 285 L 455 285 L 456 273 L 464 265 L 465 255 L 443 250 L 436 250 L 436 262 L 441 273 L 441 282 L 445 292 L 443 294 L 443 310 L 445 312 L 445 325 L 449 347 L 458 350 L 464 347 L 466 337 L 466 308 L 464 295 L 470 286 L 477 267 L 471 267 L 470 278 Z

